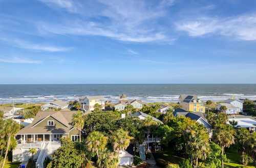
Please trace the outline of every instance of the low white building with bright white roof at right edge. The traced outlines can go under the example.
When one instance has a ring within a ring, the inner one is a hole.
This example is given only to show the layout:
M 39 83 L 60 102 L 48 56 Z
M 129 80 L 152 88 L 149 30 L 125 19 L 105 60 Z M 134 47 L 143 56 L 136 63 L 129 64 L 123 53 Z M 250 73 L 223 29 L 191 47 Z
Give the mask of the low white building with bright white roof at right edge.
M 227 124 L 230 125 L 229 121 L 237 121 L 238 125 L 235 127 L 245 127 L 247 128 L 251 133 L 256 131 L 256 120 L 251 116 L 236 116 L 236 117 L 229 117 Z

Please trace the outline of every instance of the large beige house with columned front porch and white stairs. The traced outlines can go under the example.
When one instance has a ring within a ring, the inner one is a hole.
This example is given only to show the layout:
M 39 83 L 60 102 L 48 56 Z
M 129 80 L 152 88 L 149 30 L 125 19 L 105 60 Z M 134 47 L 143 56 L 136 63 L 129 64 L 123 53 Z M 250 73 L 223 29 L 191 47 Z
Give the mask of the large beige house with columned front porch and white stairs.
M 39 111 L 33 122 L 16 134 L 18 144 L 13 150 L 13 161 L 27 161 L 29 150 L 35 148 L 37 166 L 41 166 L 46 156 L 60 147 L 60 138 L 70 137 L 78 141 L 79 131 L 72 125 L 72 116 L 77 111 Z

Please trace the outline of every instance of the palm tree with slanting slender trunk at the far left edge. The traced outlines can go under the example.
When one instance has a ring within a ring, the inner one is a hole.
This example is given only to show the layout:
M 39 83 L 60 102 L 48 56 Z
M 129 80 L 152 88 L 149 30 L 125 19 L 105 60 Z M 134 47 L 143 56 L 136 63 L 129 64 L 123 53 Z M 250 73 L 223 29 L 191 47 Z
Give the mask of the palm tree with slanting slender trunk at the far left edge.
M 11 143 L 11 137 L 19 131 L 20 126 L 16 121 L 13 121 L 12 119 L 7 119 L 7 120 L 5 120 L 4 125 L 2 127 L 3 127 L 3 129 L 1 130 L 0 135 L 6 134 L 6 136 L 7 136 L 7 146 L 6 146 L 5 158 L 4 158 L 4 162 L 3 162 L 3 166 L 2 166 L 2 168 L 4 168 L 5 161 L 6 161 L 7 154 L 8 154 L 9 147 L 10 147 L 10 143 Z

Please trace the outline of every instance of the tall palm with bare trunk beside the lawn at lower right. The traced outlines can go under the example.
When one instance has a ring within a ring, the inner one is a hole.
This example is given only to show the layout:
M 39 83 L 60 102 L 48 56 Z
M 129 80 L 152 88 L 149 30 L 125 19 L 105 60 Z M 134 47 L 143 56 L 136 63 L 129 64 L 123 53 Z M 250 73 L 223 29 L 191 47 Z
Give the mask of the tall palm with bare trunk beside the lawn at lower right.
M 221 147 L 222 154 L 224 154 L 224 148 L 229 148 L 231 144 L 234 144 L 234 133 L 234 129 L 230 125 L 220 124 L 216 127 L 212 139 Z M 223 159 L 221 166 L 224 167 Z

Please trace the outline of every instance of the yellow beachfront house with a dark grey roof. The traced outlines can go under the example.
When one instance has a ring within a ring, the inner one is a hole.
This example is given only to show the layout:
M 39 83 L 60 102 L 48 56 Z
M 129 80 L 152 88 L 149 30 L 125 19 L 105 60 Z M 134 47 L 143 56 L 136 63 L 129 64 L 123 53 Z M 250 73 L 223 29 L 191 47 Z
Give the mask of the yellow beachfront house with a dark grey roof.
M 198 99 L 196 96 L 188 95 L 181 101 L 181 108 L 186 111 L 205 113 L 205 102 Z

